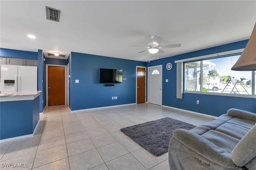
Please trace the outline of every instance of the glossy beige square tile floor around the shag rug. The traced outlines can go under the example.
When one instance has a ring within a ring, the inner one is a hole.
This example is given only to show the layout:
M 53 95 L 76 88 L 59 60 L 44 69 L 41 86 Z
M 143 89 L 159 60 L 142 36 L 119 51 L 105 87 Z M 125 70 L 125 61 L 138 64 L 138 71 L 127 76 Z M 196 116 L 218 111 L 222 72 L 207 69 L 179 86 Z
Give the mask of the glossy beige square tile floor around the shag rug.
M 74 112 L 50 106 L 34 136 L 0 143 L 0 169 L 23 163 L 28 170 L 168 170 L 168 153 L 153 156 L 120 131 L 164 117 L 196 126 L 213 119 L 146 103 Z

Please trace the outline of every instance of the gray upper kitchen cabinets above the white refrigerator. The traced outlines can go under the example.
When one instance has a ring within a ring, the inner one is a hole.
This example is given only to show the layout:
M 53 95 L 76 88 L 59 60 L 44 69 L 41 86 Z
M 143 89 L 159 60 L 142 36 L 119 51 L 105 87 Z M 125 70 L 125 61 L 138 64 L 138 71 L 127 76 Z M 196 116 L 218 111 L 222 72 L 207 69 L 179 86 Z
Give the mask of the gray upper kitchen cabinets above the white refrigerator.
M 25 58 L 6 58 L 7 65 L 38 66 L 38 60 Z

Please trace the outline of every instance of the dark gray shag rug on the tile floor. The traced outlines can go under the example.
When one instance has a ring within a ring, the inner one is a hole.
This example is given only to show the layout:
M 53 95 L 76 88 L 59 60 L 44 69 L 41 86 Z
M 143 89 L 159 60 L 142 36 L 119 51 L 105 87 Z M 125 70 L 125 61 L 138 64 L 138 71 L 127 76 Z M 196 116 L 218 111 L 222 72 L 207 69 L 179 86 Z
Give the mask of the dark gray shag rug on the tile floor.
M 190 130 L 194 127 L 196 126 L 166 117 L 120 130 L 154 156 L 161 156 L 168 152 L 173 130 Z

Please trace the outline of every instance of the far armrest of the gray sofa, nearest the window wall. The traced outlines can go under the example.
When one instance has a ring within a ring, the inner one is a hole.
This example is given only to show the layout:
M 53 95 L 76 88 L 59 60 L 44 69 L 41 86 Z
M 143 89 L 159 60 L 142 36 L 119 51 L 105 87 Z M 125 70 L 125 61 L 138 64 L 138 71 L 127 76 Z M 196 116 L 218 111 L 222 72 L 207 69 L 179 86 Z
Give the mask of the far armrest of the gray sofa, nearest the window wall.
M 248 111 L 243 111 L 240 109 L 229 109 L 228 115 L 238 117 L 241 119 L 246 119 L 250 121 L 256 121 L 256 114 Z

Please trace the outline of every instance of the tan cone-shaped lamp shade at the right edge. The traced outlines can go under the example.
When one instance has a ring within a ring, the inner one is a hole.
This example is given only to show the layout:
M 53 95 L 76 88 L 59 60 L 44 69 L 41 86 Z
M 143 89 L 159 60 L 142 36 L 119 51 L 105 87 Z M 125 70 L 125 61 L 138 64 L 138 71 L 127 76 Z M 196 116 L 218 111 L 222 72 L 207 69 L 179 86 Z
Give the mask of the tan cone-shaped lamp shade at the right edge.
M 244 51 L 233 65 L 234 71 L 256 71 L 256 23 Z

